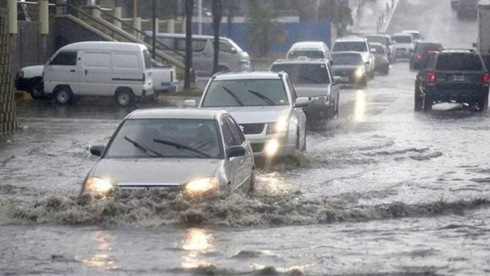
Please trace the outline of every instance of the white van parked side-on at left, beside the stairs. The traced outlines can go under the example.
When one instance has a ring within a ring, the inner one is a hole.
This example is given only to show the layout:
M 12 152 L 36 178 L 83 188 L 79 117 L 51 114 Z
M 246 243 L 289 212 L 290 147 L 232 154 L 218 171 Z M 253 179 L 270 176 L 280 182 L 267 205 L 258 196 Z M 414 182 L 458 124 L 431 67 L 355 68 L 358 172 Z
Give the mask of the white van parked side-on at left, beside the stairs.
M 44 94 L 56 102 L 75 96 L 114 96 L 121 106 L 153 96 L 146 46 L 127 42 L 77 42 L 59 49 L 44 65 Z

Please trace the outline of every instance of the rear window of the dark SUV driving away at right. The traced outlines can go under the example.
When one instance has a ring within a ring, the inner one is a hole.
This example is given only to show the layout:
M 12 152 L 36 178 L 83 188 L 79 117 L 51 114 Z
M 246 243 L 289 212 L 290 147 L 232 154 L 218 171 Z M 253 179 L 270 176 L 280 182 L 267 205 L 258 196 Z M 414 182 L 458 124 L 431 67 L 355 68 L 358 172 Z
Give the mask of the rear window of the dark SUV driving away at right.
M 481 71 L 482 60 L 476 54 L 451 53 L 437 57 L 436 70 Z

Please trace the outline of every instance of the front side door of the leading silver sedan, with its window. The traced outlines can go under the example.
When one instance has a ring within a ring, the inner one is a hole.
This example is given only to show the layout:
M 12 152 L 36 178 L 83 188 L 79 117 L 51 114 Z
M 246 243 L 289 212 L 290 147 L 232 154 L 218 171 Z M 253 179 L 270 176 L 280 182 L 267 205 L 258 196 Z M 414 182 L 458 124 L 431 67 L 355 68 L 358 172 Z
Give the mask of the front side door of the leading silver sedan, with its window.
M 230 147 L 234 146 L 235 142 L 232 130 L 230 128 L 230 125 L 228 125 L 225 117 L 222 117 L 220 119 L 220 127 L 225 142 L 225 172 L 227 174 L 228 182 L 231 184 L 230 188 L 235 189 L 240 183 L 240 177 L 238 176 L 238 174 L 241 167 L 241 159 L 239 157 L 228 158 Z

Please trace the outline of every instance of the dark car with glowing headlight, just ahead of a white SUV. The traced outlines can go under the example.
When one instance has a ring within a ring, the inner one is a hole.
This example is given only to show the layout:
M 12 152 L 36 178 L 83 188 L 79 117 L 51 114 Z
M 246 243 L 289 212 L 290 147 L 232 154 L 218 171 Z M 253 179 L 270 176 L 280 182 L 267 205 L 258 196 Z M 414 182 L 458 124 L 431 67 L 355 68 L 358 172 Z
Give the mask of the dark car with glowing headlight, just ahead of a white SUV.
M 353 84 L 357 87 L 368 86 L 363 56 L 359 52 L 336 52 L 332 54 L 332 58 L 334 73 L 341 78 L 341 83 Z

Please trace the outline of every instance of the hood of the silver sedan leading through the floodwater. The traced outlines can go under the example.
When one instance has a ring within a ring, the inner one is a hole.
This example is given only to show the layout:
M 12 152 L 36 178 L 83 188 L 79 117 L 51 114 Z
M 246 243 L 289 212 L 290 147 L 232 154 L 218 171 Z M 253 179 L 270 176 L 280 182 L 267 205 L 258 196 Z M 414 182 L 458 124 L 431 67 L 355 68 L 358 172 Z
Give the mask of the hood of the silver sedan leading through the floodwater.
M 193 177 L 214 175 L 222 162 L 194 158 L 104 158 L 96 163 L 92 176 L 110 178 L 121 187 L 175 187 Z

